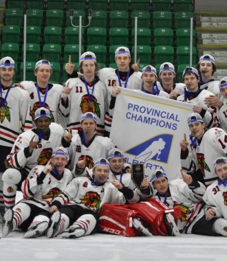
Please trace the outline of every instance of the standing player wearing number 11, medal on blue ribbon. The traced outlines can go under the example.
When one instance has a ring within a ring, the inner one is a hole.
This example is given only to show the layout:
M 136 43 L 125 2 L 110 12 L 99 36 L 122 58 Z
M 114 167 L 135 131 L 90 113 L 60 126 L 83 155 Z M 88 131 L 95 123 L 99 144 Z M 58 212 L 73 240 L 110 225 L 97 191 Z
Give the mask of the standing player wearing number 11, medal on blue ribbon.
M 70 60 L 69 60 L 70 62 Z M 85 52 L 80 56 L 80 73 L 78 78 L 70 78 L 65 82 L 60 111 L 69 117 L 67 126 L 80 129 L 80 117 L 91 112 L 96 115 L 98 135 L 104 135 L 105 113 L 108 109 L 107 88 L 97 76 L 98 63 L 93 52 Z

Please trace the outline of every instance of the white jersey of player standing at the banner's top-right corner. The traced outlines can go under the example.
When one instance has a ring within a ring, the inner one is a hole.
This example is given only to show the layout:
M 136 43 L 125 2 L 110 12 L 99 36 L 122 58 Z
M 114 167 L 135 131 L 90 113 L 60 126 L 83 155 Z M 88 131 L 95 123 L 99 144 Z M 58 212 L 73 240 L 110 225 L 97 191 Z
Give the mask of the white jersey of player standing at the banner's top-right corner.
M 213 95 L 210 91 L 202 90 L 195 98 L 189 100 L 188 98 L 185 100 L 184 94 L 177 97 L 177 100 L 180 102 L 188 102 L 191 104 L 199 105 L 203 109 L 206 110 L 206 113 L 204 115 L 204 123 L 206 124 L 206 128 L 213 128 L 216 127 L 218 124 L 217 119 L 217 108 L 212 109 L 208 107 L 206 104 L 204 104 L 204 99 L 209 97 L 210 95 Z

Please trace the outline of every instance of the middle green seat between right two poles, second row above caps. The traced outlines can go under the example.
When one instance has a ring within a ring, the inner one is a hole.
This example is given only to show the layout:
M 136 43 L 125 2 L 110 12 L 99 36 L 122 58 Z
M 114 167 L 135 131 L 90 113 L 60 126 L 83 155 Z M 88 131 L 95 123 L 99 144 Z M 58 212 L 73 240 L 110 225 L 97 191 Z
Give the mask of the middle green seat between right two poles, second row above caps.
M 155 28 L 155 45 L 173 45 L 173 30 L 171 28 Z

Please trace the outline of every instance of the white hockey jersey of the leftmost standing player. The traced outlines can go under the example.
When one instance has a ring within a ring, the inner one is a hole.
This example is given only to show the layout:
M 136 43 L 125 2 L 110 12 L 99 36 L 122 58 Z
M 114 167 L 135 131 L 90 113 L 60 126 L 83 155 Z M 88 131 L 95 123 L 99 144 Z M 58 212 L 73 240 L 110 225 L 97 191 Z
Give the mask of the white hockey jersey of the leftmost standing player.
M 32 128 L 32 118 L 26 119 L 30 110 L 30 98 L 27 91 L 20 87 L 11 87 L 10 91 L 2 87 L 0 101 L 5 98 L 4 109 L 0 108 L 0 146 L 12 147 L 21 131 Z

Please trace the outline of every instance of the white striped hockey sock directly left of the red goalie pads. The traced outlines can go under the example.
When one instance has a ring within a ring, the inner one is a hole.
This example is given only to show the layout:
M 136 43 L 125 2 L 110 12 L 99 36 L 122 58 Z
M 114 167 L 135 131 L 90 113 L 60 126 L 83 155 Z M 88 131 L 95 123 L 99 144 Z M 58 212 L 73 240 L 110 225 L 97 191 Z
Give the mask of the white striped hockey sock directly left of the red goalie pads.
M 91 214 L 85 214 L 83 216 L 80 216 L 76 222 L 73 223 L 73 227 L 82 227 L 85 229 L 85 236 L 91 234 L 91 232 L 96 227 L 96 218 L 94 218 Z

